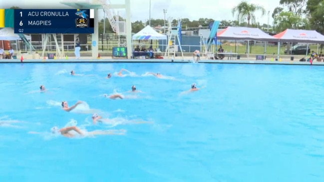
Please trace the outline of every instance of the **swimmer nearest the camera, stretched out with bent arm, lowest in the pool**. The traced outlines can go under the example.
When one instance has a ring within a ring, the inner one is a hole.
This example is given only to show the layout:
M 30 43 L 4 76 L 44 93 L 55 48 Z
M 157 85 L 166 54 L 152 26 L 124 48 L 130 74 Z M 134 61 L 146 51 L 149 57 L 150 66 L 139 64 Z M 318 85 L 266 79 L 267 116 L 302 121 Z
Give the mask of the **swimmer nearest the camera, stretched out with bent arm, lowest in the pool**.
M 67 138 L 73 138 L 76 137 L 76 135 L 69 133 L 70 131 L 75 131 L 80 136 L 85 136 L 84 133 L 81 132 L 81 130 L 76 126 L 66 127 L 59 129 L 58 127 L 51 128 L 52 134 L 60 134 Z M 29 134 L 40 134 L 39 132 L 28 132 Z M 95 130 L 92 132 L 86 132 L 86 135 L 125 135 L 126 130 L 106 130 L 106 131 L 100 131 Z

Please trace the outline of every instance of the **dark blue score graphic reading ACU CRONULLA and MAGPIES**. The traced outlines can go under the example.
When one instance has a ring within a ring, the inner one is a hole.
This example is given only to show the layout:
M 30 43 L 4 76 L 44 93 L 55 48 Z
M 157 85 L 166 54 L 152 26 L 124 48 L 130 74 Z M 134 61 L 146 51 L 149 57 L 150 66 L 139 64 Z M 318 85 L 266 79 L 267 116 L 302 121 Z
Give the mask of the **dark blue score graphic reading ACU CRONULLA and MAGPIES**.
M 14 33 L 94 33 L 94 9 L 0 9 L 0 27 Z

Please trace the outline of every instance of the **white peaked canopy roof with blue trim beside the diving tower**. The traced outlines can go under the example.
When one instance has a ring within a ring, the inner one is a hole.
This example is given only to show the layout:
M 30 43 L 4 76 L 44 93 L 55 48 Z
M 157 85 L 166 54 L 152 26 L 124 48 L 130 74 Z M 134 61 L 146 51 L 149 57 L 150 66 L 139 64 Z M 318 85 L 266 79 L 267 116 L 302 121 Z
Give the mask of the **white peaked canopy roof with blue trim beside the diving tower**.
M 166 40 L 167 36 L 156 32 L 151 26 L 147 25 L 141 31 L 132 36 L 133 40 Z

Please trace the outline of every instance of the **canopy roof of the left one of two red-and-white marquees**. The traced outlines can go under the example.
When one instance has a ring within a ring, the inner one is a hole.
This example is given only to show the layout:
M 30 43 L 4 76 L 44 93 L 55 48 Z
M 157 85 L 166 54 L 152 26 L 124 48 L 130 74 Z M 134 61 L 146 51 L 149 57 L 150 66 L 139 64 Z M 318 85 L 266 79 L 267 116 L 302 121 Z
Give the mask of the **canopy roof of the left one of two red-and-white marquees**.
M 224 30 L 217 32 L 217 39 L 220 40 L 262 40 L 262 41 L 278 41 L 259 28 L 234 27 L 229 26 Z

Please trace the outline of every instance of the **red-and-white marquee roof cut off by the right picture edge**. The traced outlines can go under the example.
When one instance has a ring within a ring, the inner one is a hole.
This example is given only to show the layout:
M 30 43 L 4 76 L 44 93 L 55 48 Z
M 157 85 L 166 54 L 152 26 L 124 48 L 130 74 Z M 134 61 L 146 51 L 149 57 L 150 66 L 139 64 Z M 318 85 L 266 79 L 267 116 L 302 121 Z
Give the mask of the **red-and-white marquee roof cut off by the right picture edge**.
M 286 29 L 273 37 L 281 42 L 324 43 L 324 35 L 315 30 Z

